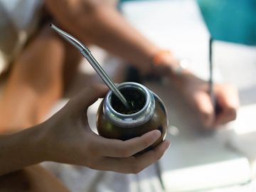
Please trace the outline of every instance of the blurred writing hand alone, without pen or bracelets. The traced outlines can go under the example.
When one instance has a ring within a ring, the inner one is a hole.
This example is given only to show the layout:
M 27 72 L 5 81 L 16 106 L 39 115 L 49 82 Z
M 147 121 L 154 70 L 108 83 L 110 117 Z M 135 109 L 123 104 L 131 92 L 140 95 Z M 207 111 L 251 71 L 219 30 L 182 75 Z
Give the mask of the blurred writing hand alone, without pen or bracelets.
M 178 79 L 178 89 L 198 111 L 203 125 L 216 127 L 236 118 L 239 100 L 238 90 L 235 87 L 216 83 L 213 86 L 213 90 L 217 106 L 213 106 L 210 100 L 208 82 L 197 78 L 191 73 L 184 73 Z M 219 110 L 216 111 L 216 108 Z

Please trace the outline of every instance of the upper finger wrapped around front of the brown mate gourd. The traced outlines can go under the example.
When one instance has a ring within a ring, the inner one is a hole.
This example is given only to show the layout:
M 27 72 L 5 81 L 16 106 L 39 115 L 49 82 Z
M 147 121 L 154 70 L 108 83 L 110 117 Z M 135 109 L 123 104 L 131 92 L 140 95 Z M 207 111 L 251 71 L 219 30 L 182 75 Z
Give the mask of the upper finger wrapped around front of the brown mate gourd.
M 96 135 L 92 150 L 97 151 L 102 156 L 128 157 L 151 146 L 160 136 L 161 132 L 159 130 L 147 132 L 141 137 L 134 137 L 126 141 L 107 139 Z

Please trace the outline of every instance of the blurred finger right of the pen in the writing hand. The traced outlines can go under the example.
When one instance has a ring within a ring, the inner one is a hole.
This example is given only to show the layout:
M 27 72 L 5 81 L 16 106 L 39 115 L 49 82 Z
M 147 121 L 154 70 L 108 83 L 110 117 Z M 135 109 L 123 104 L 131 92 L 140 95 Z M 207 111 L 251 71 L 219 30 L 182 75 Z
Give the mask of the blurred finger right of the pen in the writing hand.
M 239 106 L 238 91 L 230 86 L 221 86 L 216 92 L 216 99 L 221 111 L 217 114 L 215 124 L 225 124 L 236 118 L 236 111 Z

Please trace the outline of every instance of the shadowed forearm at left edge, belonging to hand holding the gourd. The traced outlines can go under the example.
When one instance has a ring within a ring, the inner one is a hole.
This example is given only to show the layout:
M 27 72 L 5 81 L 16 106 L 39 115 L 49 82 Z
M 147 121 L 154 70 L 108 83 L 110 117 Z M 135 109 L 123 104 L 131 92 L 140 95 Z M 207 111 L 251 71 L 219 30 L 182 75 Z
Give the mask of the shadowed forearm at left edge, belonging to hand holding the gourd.
M 44 159 L 41 125 L 0 136 L 0 176 Z

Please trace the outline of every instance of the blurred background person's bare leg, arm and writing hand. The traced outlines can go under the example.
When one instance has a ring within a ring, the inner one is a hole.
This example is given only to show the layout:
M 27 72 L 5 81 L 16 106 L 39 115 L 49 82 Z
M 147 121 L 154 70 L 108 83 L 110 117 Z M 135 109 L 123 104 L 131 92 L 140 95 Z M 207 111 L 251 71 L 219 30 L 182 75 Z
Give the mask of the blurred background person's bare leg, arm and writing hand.
M 169 78 L 171 85 L 198 112 L 206 127 L 235 119 L 238 92 L 234 87 L 214 85 L 221 108 L 216 114 L 209 97 L 208 82 L 181 69 L 175 55 L 154 45 L 132 28 L 117 11 L 116 3 L 104 0 L 45 1 L 50 21 L 86 45 L 95 44 L 129 61 L 142 76 L 151 74 Z M 80 53 L 50 31 L 45 23 L 14 60 L 0 101 L 1 133 L 13 133 L 40 124 L 63 95 L 80 62 Z

